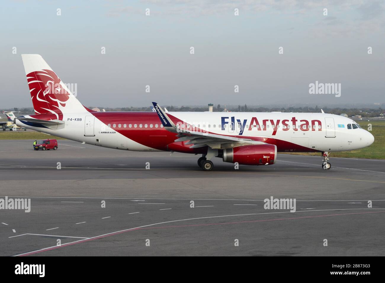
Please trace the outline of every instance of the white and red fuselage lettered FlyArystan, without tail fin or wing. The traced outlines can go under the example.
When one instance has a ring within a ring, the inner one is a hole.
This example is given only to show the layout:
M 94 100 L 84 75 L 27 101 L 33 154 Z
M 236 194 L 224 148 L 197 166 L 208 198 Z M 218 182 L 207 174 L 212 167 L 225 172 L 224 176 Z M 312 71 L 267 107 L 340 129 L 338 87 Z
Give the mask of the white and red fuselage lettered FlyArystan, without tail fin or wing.
M 373 135 L 357 128 L 352 119 L 325 113 L 167 112 L 167 115 L 182 121 L 180 127 L 188 124 L 218 135 L 273 140 L 282 144 L 278 151 L 292 151 L 290 144 L 309 151 L 346 151 L 369 146 L 374 141 Z M 63 121 L 64 125 L 50 127 L 36 127 L 19 120 L 16 123 L 50 135 L 123 150 L 165 150 L 163 143 L 176 139 L 175 133 L 161 126 L 154 112 L 64 113 Z

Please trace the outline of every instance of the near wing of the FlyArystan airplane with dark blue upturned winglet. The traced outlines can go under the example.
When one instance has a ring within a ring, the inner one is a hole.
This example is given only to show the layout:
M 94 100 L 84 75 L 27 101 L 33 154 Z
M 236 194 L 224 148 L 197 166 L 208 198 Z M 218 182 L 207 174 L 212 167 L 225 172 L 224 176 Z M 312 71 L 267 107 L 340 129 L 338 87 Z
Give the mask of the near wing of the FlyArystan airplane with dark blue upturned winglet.
M 192 145 L 190 148 L 199 148 L 209 146 L 214 149 L 232 148 L 241 145 L 261 145 L 266 144 L 263 141 L 255 141 L 248 138 L 229 137 L 208 132 L 196 132 L 178 128 L 168 117 L 167 113 L 156 103 L 154 105 L 155 112 L 158 114 L 163 127 L 173 133 L 177 133 L 177 141 L 187 141 L 185 145 Z

